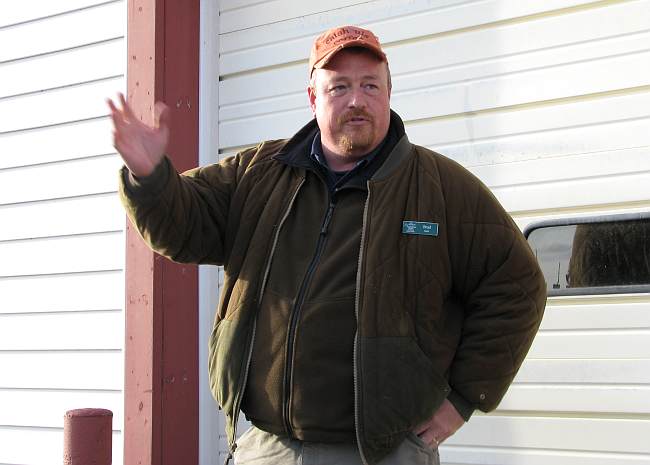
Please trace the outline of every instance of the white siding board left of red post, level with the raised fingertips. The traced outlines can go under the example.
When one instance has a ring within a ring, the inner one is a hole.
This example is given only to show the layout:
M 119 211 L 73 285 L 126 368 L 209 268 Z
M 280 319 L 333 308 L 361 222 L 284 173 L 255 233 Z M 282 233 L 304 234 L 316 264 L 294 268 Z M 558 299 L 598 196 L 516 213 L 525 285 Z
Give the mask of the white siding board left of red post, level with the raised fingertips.
M 106 116 L 106 97 L 123 88 L 117 77 L 0 100 L 0 133 Z

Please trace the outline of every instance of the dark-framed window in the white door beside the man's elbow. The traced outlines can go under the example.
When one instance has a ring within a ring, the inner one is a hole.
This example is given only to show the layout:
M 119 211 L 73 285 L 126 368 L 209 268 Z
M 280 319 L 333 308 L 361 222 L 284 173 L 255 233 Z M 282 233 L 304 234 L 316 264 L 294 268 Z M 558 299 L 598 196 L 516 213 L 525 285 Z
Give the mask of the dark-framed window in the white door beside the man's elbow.
M 650 218 L 560 221 L 526 235 L 549 294 L 650 290 Z

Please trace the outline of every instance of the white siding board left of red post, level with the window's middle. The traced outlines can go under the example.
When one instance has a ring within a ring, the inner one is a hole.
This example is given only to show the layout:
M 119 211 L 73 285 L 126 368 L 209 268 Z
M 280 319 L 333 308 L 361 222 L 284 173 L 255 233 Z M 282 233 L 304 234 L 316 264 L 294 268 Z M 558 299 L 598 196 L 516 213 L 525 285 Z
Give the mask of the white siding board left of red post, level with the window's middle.
M 0 277 L 118 270 L 121 232 L 0 243 Z

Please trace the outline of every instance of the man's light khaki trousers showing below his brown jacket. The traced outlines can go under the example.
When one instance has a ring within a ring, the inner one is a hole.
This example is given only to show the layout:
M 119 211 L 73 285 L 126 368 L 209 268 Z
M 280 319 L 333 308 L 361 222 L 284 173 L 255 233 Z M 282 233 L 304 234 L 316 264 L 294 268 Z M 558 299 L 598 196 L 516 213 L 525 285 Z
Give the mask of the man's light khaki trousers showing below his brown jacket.
M 235 465 L 362 465 L 356 444 L 303 442 L 252 427 L 237 441 Z M 440 465 L 436 449 L 409 434 L 380 465 Z

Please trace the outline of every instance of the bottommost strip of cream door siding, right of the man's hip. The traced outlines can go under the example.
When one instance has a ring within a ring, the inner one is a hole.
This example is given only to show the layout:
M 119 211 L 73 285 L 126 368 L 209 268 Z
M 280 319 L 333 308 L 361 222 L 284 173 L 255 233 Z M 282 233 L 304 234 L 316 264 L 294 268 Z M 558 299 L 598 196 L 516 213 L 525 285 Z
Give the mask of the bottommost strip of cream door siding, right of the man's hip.
M 575 433 L 574 433 L 575 434 Z M 647 465 L 648 454 L 563 451 L 554 448 L 441 447 L 442 465 Z

